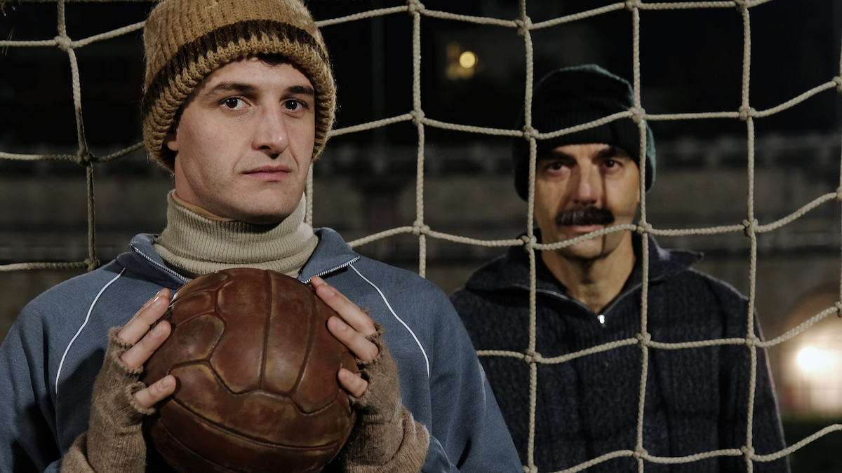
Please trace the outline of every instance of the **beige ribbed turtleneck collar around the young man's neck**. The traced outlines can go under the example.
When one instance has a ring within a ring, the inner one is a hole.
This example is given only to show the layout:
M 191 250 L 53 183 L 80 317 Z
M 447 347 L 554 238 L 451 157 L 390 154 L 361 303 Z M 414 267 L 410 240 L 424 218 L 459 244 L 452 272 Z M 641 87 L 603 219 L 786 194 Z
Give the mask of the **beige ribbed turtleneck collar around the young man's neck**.
M 167 228 L 155 242 L 161 258 L 180 274 L 195 278 L 227 268 L 272 269 L 296 277 L 318 244 L 304 222 L 305 199 L 277 224 L 232 221 L 181 205 L 167 196 Z

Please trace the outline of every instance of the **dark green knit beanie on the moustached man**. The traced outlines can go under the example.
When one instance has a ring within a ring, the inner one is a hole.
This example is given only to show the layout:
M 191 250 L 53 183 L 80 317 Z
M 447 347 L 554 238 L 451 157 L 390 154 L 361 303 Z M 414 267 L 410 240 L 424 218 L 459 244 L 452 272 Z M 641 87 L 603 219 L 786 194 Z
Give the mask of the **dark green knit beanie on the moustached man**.
M 634 107 L 632 85 L 600 66 L 564 67 L 547 74 L 532 94 L 532 127 L 541 133 L 551 133 L 575 125 L 599 120 L 610 114 Z M 523 130 L 524 112 L 520 110 L 518 130 Z M 565 145 L 605 143 L 620 146 L 640 167 L 640 132 L 631 118 L 614 120 L 608 124 L 538 140 L 538 157 L 546 151 Z M 521 199 L 529 193 L 529 141 L 517 137 L 512 141 L 514 188 Z M 646 190 L 655 182 L 655 142 L 652 130 L 646 125 Z

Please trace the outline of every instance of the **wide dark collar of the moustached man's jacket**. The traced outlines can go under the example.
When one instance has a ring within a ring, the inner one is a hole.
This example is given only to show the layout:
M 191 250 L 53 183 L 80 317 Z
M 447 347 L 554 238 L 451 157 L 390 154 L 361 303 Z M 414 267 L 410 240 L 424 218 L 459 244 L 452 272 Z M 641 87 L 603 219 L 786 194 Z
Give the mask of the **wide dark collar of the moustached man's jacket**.
M 536 230 L 536 237 L 541 240 L 541 232 Z M 695 263 L 701 261 L 701 252 L 689 250 L 669 250 L 658 245 L 658 242 L 651 235 L 649 240 L 649 280 L 654 281 L 667 276 L 678 274 Z M 630 282 L 637 282 L 642 279 L 642 236 L 632 232 L 632 247 L 637 262 L 632 271 Z M 540 258 L 540 252 L 536 252 L 536 264 L 538 278 L 536 286 L 539 290 L 557 291 L 558 285 L 555 278 L 544 266 Z M 637 281 L 635 280 L 637 279 Z M 509 252 L 494 258 L 478 268 L 467 280 L 465 287 L 471 290 L 506 290 L 526 289 L 529 290 L 529 253 L 524 247 L 511 247 Z M 628 284 L 626 284 L 628 285 Z

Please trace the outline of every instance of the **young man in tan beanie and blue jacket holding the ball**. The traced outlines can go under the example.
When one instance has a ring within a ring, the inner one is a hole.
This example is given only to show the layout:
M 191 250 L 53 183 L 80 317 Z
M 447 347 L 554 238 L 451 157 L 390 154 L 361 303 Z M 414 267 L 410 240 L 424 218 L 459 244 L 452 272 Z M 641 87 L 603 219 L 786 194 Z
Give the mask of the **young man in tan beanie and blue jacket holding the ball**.
M 307 171 L 335 109 L 328 52 L 306 8 L 167 0 L 144 40 L 144 137 L 175 179 L 168 226 L 21 313 L 0 349 L 0 470 L 146 470 L 142 419 L 176 385 L 171 375 L 137 382 L 170 331 L 156 322 L 189 279 L 236 267 L 312 284 L 338 312 L 328 329 L 360 366 L 337 373 L 358 414 L 339 468 L 520 470 L 445 295 L 304 223 Z

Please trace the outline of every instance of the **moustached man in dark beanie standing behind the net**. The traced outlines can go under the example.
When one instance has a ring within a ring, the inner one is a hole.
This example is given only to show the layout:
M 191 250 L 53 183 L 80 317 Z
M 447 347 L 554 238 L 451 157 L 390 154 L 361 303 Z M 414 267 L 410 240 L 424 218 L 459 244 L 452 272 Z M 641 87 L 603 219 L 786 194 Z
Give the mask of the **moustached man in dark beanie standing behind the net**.
M 560 69 L 546 76 L 533 98 L 533 126 L 541 132 L 598 120 L 633 106 L 628 82 L 599 66 Z M 523 125 L 523 118 L 521 123 Z M 647 152 L 632 120 L 538 141 L 535 180 L 536 237 L 563 242 L 607 226 L 632 223 L 640 202 L 640 167 L 652 186 L 655 149 L 647 126 Z M 515 187 L 526 199 L 529 147 L 514 143 Z M 664 250 L 651 236 L 646 330 L 652 340 L 681 343 L 745 337 L 748 303 L 722 281 L 690 266 L 699 253 Z M 641 331 L 642 237 L 617 231 L 554 251 L 537 252 L 536 352 L 543 359 L 634 338 Z M 529 346 L 530 263 L 520 247 L 472 275 L 451 296 L 477 349 L 523 353 Z M 755 319 L 756 320 L 756 319 Z M 759 336 L 759 326 L 754 332 Z M 770 454 L 785 447 L 766 365 L 758 350 L 751 447 Z M 529 436 L 530 367 L 523 360 L 483 357 L 514 443 L 525 462 Z M 617 450 L 634 452 L 642 351 L 637 344 L 538 364 L 535 464 L 563 470 Z M 746 444 L 749 348 L 649 348 L 643 449 L 681 457 Z M 631 453 L 588 471 L 637 471 Z M 754 462 L 754 471 L 786 471 L 786 459 Z M 742 456 L 645 470 L 744 471 Z

